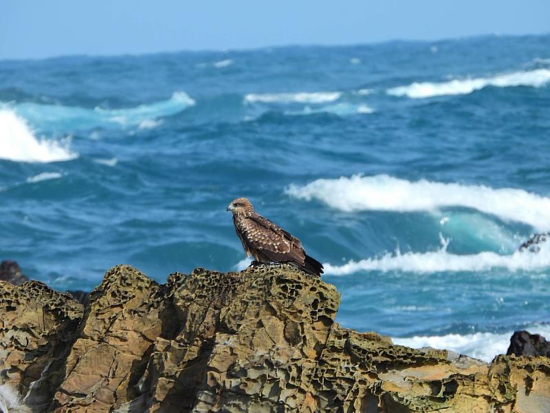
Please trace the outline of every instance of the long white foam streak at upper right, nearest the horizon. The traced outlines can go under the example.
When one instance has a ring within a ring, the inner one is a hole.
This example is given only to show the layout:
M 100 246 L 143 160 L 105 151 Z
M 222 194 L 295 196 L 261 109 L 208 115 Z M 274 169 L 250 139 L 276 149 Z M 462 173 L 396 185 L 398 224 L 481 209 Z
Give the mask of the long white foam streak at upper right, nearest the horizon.
M 549 69 L 529 70 L 525 72 L 514 72 L 500 74 L 487 78 L 466 78 L 453 79 L 448 82 L 412 83 L 407 86 L 393 87 L 386 90 L 392 96 L 408 96 L 409 98 L 430 98 L 433 96 L 470 94 L 487 86 L 494 87 L 516 87 L 531 86 L 541 87 L 550 82 Z

